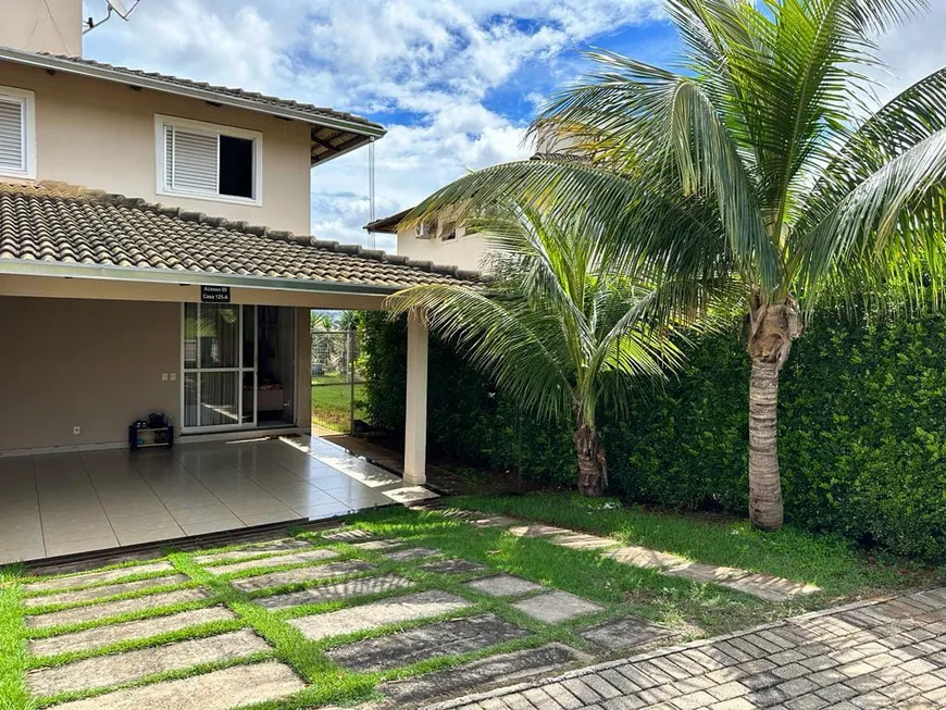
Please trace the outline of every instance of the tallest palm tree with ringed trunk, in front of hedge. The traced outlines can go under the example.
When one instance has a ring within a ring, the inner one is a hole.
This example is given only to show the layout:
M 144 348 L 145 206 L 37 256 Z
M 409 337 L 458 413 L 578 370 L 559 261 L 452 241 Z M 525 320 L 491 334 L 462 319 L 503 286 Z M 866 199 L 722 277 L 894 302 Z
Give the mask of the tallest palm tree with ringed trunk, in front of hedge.
M 609 225 L 625 258 L 647 254 L 676 279 L 731 278 L 751 360 L 749 515 L 776 530 L 779 375 L 804 316 L 825 299 L 894 308 L 941 295 L 946 70 L 875 111 L 868 78 L 872 37 L 923 8 L 669 0 L 677 71 L 594 54 L 598 71 L 533 125 L 570 160 L 473 173 L 413 216 L 515 196 Z

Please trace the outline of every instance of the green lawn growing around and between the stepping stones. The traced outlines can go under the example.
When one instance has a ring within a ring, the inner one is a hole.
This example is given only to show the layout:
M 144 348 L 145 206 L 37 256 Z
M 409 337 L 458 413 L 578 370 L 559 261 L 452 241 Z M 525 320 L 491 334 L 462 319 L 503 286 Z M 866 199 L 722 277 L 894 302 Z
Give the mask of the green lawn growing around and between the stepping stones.
M 272 648 L 262 653 L 232 659 L 219 664 L 191 667 L 160 676 L 139 678 L 129 685 L 185 677 L 225 665 L 275 658 L 292 667 L 301 677 L 306 678 L 309 686 L 285 700 L 254 706 L 256 710 L 289 710 L 319 705 L 352 703 L 374 697 L 376 686 L 385 681 L 450 668 L 495 653 L 535 648 L 550 642 L 559 642 L 575 649 L 594 652 L 594 648 L 580 634 L 588 625 L 608 618 L 632 614 L 659 622 L 679 632 L 680 635 L 675 640 L 685 640 L 746 628 L 861 596 L 900 589 L 908 585 L 928 584 L 936 578 L 931 571 L 914 566 L 898 566 L 893 561 L 869 560 L 832 538 L 792 528 L 775 534 L 761 534 L 752 532 L 740 522 L 627 509 L 621 507 L 618 501 L 609 499 L 587 500 L 570 495 L 534 495 L 456 498 L 451 499 L 450 503 L 457 508 L 505 513 L 527 518 L 533 522 L 546 522 L 610 535 L 618 540 L 676 552 L 701 562 L 744 566 L 794 580 L 814 582 L 824 591 L 791 602 L 770 603 L 722 586 L 694 583 L 661 574 L 656 570 L 621 564 L 594 550 L 569 549 L 553 545 L 542 537 L 516 537 L 503 527 L 474 526 L 446 515 L 446 511 L 420 511 L 400 507 L 379 509 L 349 516 L 347 522 L 351 526 L 369 531 L 379 537 L 400 538 L 411 546 L 431 548 L 447 557 L 480 562 L 487 568 L 487 571 L 477 573 L 477 576 L 486 576 L 495 572 L 516 574 L 548 587 L 580 595 L 599 603 L 603 609 L 571 622 L 542 623 L 515 609 L 510 599 L 489 597 L 465 586 L 462 576 L 425 572 L 420 569 L 422 562 L 389 560 L 382 551 L 360 549 L 346 543 L 329 543 L 316 532 L 298 530 L 295 531 L 296 535 L 308 539 L 312 545 L 335 549 L 338 555 L 328 562 L 362 559 L 371 563 L 373 569 L 344 577 L 325 577 L 245 593 L 231 586 L 229 581 L 239 576 L 299 565 L 265 566 L 266 561 L 261 559 L 262 566 L 259 569 L 214 575 L 208 571 L 206 564 L 195 561 L 197 555 L 206 553 L 207 550 L 172 551 L 164 559 L 167 559 L 178 573 L 187 577 L 186 582 L 175 585 L 175 588 L 199 586 L 208 593 L 208 599 L 176 605 L 173 608 L 148 608 L 121 618 L 52 627 L 25 625 L 25 610 L 21 600 L 24 594 L 30 594 L 30 590 L 28 585 L 23 584 L 25 581 L 23 571 L 9 568 L 4 572 L 0 569 L 0 710 L 33 710 L 65 700 L 94 697 L 103 692 L 99 688 L 32 698 L 24 684 L 25 673 L 32 668 L 61 665 L 92 656 L 116 653 L 186 638 L 199 638 L 241 627 L 254 630 L 269 642 Z M 323 563 L 325 562 L 320 561 L 314 564 Z M 166 572 L 145 573 L 128 578 L 150 578 L 163 574 Z M 278 611 L 270 611 L 254 603 L 258 599 L 273 594 L 381 574 L 396 574 L 410 580 L 411 591 L 441 589 L 471 602 L 471 606 L 446 614 L 443 619 L 491 612 L 527 628 L 531 634 L 473 653 L 420 661 L 393 671 L 354 672 L 333 662 L 326 650 L 339 644 L 430 624 L 441 618 L 310 640 L 288 622 L 300 615 L 333 611 L 373 599 L 402 595 L 406 590 L 391 589 L 344 601 L 310 603 Z M 38 594 L 54 593 L 52 590 Z M 140 597 L 151 593 L 153 589 L 139 589 L 121 597 Z M 120 597 L 80 603 L 83 606 L 98 603 L 115 598 Z M 28 638 L 102 626 L 124 619 L 152 616 L 213 605 L 226 606 L 236 618 L 192 626 L 158 637 L 121 642 L 89 651 L 46 658 L 30 657 L 24 649 L 25 640 Z M 30 611 L 54 611 L 67 606 L 49 605 Z

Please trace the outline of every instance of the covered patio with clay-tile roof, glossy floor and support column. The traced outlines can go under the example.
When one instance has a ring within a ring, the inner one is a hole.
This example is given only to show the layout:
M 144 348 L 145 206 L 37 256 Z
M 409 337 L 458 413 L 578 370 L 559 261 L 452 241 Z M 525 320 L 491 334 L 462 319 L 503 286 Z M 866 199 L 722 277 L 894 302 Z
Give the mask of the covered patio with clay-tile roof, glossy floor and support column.
M 434 495 L 423 317 L 408 327 L 401 478 L 311 437 L 309 312 L 470 275 L 58 184 L 0 185 L 4 205 L 0 563 Z M 174 447 L 129 451 L 150 412 L 171 418 Z

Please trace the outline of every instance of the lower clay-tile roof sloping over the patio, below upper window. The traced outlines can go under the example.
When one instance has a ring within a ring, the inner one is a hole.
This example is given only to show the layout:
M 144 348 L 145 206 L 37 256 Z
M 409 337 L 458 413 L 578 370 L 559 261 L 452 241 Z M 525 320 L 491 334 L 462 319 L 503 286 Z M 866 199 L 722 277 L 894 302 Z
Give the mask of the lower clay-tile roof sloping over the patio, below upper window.
M 63 183 L 0 183 L 0 274 L 391 294 L 473 283 L 411 261 Z

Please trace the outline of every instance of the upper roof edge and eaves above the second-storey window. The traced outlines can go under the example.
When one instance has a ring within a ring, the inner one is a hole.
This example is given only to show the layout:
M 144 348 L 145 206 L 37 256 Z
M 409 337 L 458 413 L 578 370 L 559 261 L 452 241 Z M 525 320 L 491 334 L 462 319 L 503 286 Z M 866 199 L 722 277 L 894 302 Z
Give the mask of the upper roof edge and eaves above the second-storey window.
M 242 89 L 214 86 L 203 82 L 192 82 L 167 74 L 114 66 L 90 59 L 48 54 L 46 52 L 27 52 L 21 49 L 0 47 L 0 60 L 39 66 L 52 72 L 65 72 L 119 82 L 128 86 L 148 88 L 155 91 L 178 94 L 202 99 L 211 103 L 247 109 L 282 119 L 303 121 L 312 126 L 310 157 L 313 165 L 364 146 L 374 138 L 385 134 L 385 129 L 381 124 L 350 113 L 315 107 L 309 103 L 299 103 L 288 99 L 278 99 L 252 91 L 244 91 Z

